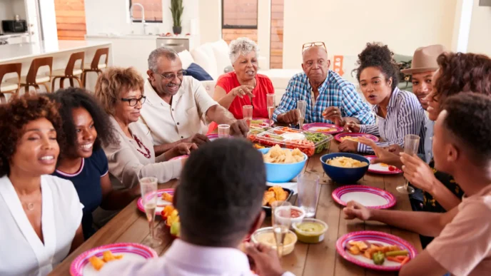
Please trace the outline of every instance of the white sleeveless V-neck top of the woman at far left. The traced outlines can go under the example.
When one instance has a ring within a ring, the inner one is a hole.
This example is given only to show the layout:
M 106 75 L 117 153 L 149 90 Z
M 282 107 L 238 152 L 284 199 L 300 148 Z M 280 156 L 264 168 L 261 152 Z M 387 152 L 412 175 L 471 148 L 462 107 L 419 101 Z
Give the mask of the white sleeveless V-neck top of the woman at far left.
M 32 228 L 7 176 L 0 178 L 0 275 L 47 275 L 69 254 L 82 220 L 74 185 L 41 175 L 41 228 L 44 244 Z

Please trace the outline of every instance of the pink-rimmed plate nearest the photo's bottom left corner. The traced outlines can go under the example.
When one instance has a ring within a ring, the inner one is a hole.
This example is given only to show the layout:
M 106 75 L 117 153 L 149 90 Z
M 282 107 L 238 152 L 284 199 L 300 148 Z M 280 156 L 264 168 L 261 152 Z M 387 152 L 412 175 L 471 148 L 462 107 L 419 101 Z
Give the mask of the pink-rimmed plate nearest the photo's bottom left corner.
M 93 268 L 88 259 L 92 256 L 102 257 L 103 252 L 111 250 L 114 255 L 123 255 L 121 260 L 113 260 L 113 262 L 121 262 L 122 260 L 145 260 L 153 257 L 158 257 L 157 252 L 141 245 L 139 243 L 114 243 L 112 245 L 102 245 L 86 252 L 83 252 L 79 257 L 71 262 L 70 275 L 72 276 L 90 276 L 98 275 L 98 271 Z

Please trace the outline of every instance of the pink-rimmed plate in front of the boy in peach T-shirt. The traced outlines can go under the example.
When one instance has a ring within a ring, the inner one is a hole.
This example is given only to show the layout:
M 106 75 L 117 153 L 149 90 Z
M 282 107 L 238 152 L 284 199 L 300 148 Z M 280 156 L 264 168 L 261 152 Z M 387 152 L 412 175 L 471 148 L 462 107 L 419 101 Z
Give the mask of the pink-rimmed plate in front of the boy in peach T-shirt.
M 375 265 L 373 260 L 370 260 L 363 255 L 353 255 L 346 250 L 346 244 L 350 241 L 363 241 L 366 240 L 372 243 L 380 243 L 381 245 L 397 245 L 401 250 L 408 250 L 409 257 L 412 260 L 417 255 L 415 247 L 413 247 L 407 240 L 403 240 L 395 235 L 390 235 L 385 232 L 377 231 L 359 231 L 350 232 L 343 235 L 336 242 L 336 250 L 341 257 L 345 258 L 349 262 L 353 262 L 355 265 L 360 267 L 370 268 L 372 270 L 382 270 L 382 271 L 398 271 L 400 270 L 399 262 L 392 262 L 390 260 L 385 260 L 383 265 Z

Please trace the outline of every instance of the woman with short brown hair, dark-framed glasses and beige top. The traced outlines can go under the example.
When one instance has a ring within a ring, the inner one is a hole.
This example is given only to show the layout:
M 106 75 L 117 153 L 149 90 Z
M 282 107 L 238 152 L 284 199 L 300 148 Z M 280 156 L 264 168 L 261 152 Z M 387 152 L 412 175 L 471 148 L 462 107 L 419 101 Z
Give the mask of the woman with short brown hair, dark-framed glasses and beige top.
M 134 68 L 108 68 L 96 82 L 95 95 L 110 114 L 118 133 L 118 145 L 104 147 L 114 188 L 133 188 L 138 179 L 153 176 L 164 183 L 181 175 L 182 160 L 173 157 L 189 154 L 197 148 L 194 143 L 181 143 L 156 156 L 151 137 L 136 125 L 145 103 L 143 78 Z M 170 161 L 166 161 L 170 160 Z

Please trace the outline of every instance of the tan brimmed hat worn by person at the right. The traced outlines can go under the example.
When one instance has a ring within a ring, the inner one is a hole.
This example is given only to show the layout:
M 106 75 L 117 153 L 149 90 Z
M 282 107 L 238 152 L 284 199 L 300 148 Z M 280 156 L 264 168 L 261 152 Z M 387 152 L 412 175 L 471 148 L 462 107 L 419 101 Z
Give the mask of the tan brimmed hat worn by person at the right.
M 437 57 L 444 51 L 445 48 L 440 44 L 417 48 L 412 56 L 411 68 L 401 70 L 401 72 L 412 75 L 412 73 L 436 71 L 438 69 Z

